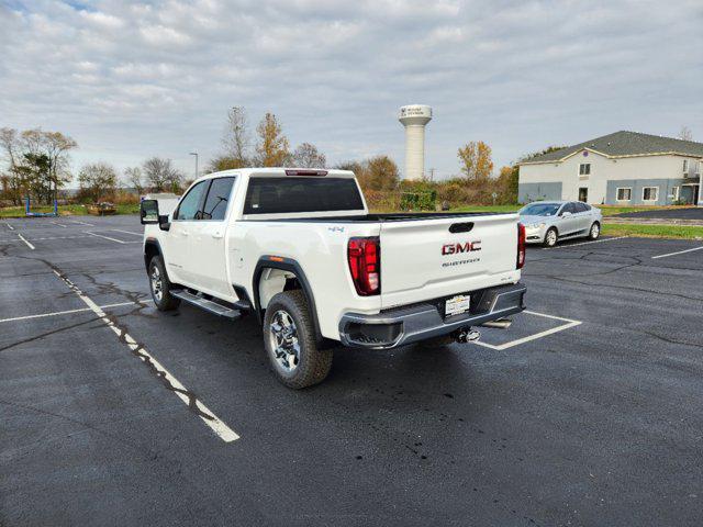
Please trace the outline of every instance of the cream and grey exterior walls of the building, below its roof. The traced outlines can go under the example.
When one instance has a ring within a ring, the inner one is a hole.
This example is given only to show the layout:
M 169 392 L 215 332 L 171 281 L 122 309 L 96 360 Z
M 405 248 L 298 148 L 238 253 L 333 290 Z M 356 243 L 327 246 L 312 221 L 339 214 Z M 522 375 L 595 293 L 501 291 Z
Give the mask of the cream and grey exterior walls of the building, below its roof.
M 620 159 L 609 159 L 600 154 L 582 150 L 562 162 L 543 162 L 538 165 L 523 165 L 520 167 L 518 200 L 521 203 L 532 201 L 538 195 L 540 199 L 578 200 L 579 188 L 587 188 L 589 203 L 618 204 L 615 201 L 617 187 L 632 187 L 632 204 L 641 204 L 641 187 L 660 187 L 657 204 L 669 204 L 671 187 L 684 180 L 682 156 L 640 156 Z M 695 159 L 689 158 L 690 164 Z M 579 177 L 579 165 L 591 165 L 588 178 Z M 645 181 L 649 181 L 645 184 Z M 689 178 L 685 182 L 693 182 Z M 551 183 L 545 187 L 545 183 Z M 616 183 L 616 184 L 612 184 Z M 555 195 L 556 184 L 560 186 L 561 195 Z M 635 188 L 637 186 L 637 188 Z M 537 191 L 537 188 L 539 191 Z M 547 189 L 547 191 L 543 191 Z M 547 197 L 540 197 L 546 194 Z

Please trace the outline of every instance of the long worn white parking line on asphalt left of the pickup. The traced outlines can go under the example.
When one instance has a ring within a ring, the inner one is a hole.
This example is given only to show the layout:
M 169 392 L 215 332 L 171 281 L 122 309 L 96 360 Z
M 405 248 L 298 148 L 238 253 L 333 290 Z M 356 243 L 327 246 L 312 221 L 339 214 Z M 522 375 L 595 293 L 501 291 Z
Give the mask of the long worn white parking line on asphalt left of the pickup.
M 108 315 L 104 311 L 100 309 L 98 304 L 96 304 L 92 300 L 83 294 L 83 292 L 78 289 L 74 282 L 71 282 L 68 278 L 63 276 L 57 270 L 54 270 L 54 273 L 68 285 L 74 293 L 78 295 L 83 303 L 90 307 L 90 310 L 98 315 L 102 322 L 114 332 L 114 334 L 123 340 L 127 347 L 137 355 L 142 361 L 149 367 L 149 369 L 156 371 L 156 374 L 168 383 L 168 386 L 174 391 L 174 393 L 188 407 L 193 408 L 198 416 L 202 419 L 202 422 L 208 425 L 212 431 L 214 431 L 220 439 L 225 442 L 232 442 L 239 438 L 236 431 L 225 425 L 220 418 L 213 414 L 208 406 L 205 406 L 199 399 L 197 399 L 192 392 L 186 389 L 178 379 L 170 374 L 170 372 L 161 366 L 161 363 L 152 356 L 146 348 L 137 344 L 137 341 L 132 338 L 132 336 L 126 333 L 124 329 L 118 327 L 114 322 L 108 318 Z

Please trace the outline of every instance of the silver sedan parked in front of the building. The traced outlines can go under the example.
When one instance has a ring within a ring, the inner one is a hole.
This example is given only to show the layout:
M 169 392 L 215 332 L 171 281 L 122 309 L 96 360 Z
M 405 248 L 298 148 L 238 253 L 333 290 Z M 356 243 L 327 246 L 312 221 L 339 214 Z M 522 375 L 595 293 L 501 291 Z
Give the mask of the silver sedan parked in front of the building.
M 528 244 L 554 247 L 558 240 L 585 237 L 598 239 L 603 214 L 580 201 L 539 201 L 520 210 Z

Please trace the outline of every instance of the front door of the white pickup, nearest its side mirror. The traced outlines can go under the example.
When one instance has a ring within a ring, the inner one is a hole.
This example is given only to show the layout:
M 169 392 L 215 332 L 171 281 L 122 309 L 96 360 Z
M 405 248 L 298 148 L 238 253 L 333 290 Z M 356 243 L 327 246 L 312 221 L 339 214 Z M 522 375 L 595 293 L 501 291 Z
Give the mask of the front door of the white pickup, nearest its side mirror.
M 165 237 L 166 266 L 174 282 L 193 283 L 190 262 L 192 235 L 200 223 L 200 209 L 208 184 L 209 181 L 200 181 L 191 187 L 174 211 L 171 227 Z

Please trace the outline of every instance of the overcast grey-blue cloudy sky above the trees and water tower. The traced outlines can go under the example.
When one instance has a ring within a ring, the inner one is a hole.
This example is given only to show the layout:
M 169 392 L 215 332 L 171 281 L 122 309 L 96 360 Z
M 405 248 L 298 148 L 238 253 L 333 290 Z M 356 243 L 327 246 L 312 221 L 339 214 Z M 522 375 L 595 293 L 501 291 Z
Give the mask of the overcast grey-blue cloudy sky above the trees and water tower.
M 330 164 L 403 166 L 402 104 L 434 109 L 426 169 L 482 139 L 496 168 L 617 130 L 703 141 L 703 2 L 0 0 L 0 126 L 60 131 L 74 169 L 189 173 L 225 114 L 265 111 Z

